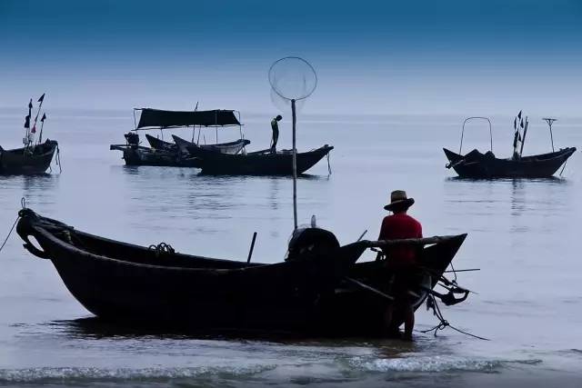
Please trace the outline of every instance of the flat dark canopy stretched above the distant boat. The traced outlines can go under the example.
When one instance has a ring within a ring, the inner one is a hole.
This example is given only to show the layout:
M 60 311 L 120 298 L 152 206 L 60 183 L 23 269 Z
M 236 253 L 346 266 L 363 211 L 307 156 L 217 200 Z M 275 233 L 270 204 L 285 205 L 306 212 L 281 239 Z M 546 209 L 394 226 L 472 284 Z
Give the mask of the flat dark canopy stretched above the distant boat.
M 142 108 L 139 123 L 135 129 L 173 128 L 190 125 L 227 126 L 240 125 L 235 111 L 215 109 L 212 111 L 164 111 Z

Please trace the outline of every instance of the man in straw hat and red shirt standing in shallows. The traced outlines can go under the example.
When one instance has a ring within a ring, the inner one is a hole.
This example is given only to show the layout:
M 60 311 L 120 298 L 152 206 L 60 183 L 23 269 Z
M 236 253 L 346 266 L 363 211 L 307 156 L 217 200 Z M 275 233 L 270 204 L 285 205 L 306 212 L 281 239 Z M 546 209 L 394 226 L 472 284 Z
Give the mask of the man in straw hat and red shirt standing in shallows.
M 415 200 L 406 197 L 406 192 L 402 190 L 396 190 L 390 194 L 390 204 L 386 204 L 384 208 L 394 214 L 387 215 L 382 221 L 378 240 L 422 238 L 421 224 L 406 214 L 408 208 L 414 203 Z M 393 246 L 386 248 L 384 254 L 386 255 L 386 268 L 394 274 L 391 293 L 395 297 L 394 303 L 388 305 L 384 315 L 386 330 L 390 329 L 396 304 L 396 307 L 400 308 L 404 315 L 404 339 L 412 340 L 415 313 L 408 289 L 416 276 L 418 251 L 411 246 Z

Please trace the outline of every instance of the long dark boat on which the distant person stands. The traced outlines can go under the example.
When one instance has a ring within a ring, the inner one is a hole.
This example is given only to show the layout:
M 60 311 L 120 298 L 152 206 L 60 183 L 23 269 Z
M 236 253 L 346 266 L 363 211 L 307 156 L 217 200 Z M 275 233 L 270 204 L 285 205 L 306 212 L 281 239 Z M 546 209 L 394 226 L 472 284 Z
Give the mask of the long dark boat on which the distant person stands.
M 201 160 L 202 174 L 293 175 L 293 152 L 290 150 L 219 154 L 196 145 L 190 145 L 187 149 L 190 155 Z M 297 174 L 305 173 L 333 149 L 333 146 L 326 144 L 312 151 L 297 153 Z

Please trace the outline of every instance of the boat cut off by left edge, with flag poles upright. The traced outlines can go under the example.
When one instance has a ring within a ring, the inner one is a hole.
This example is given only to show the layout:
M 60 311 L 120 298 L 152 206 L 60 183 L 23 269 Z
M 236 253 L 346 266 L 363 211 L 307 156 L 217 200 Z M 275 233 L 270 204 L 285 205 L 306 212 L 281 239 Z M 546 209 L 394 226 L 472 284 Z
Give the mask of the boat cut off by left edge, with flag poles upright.
M 44 100 L 45 95 L 38 99 L 40 104 L 32 128 L 30 127 L 33 108 L 32 99 L 28 103 L 28 115 L 25 117 L 26 133 L 23 138 L 25 146 L 10 150 L 5 150 L 0 146 L 0 174 L 44 174 L 50 167 L 55 152 L 58 153 L 58 143 L 50 139 L 42 143 L 46 114 L 43 114 L 40 120 L 40 135 L 38 142 L 35 142 L 36 123 Z

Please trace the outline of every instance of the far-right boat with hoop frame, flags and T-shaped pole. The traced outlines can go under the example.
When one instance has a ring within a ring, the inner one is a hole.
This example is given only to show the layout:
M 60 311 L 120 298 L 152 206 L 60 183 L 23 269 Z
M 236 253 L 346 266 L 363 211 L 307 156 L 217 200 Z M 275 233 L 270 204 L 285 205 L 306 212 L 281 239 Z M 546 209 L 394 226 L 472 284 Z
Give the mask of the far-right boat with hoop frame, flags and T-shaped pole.
M 465 134 L 465 124 L 471 120 L 487 120 L 489 124 L 490 149 L 487 153 L 482 154 L 477 149 L 467 153 L 462 153 L 463 135 Z M 519 119 L 519 124 L 517 119 Z M 548 119 L 555 120 L 555 119 Z M 493 134 L 491 121 L 487 117 L 468 117 L 463 123 L 461 132 L 461 144 L 459 152 L 455 153 L 443 148 L 447 155 L 449 163 L 447 168 L 453 168 L 462 178 L 547 178 L 557 173 L 560 166 L 566 166 L 567 159 L 574 154 L 576 147 L 562 148 L 559 151 L 554 150 L 554 138 L 551 133 L 552 152 L 547 154 L 535 154 L 523 156 L 523 148 L 527 135 L 529 121 L 527 117 L 522 118 L 521 112 L 514 121 L 514 153 L 513 156 L 505 159 L 497 158 L 493 154 Z M 522 131 L 523 130 L 523 131 Z

